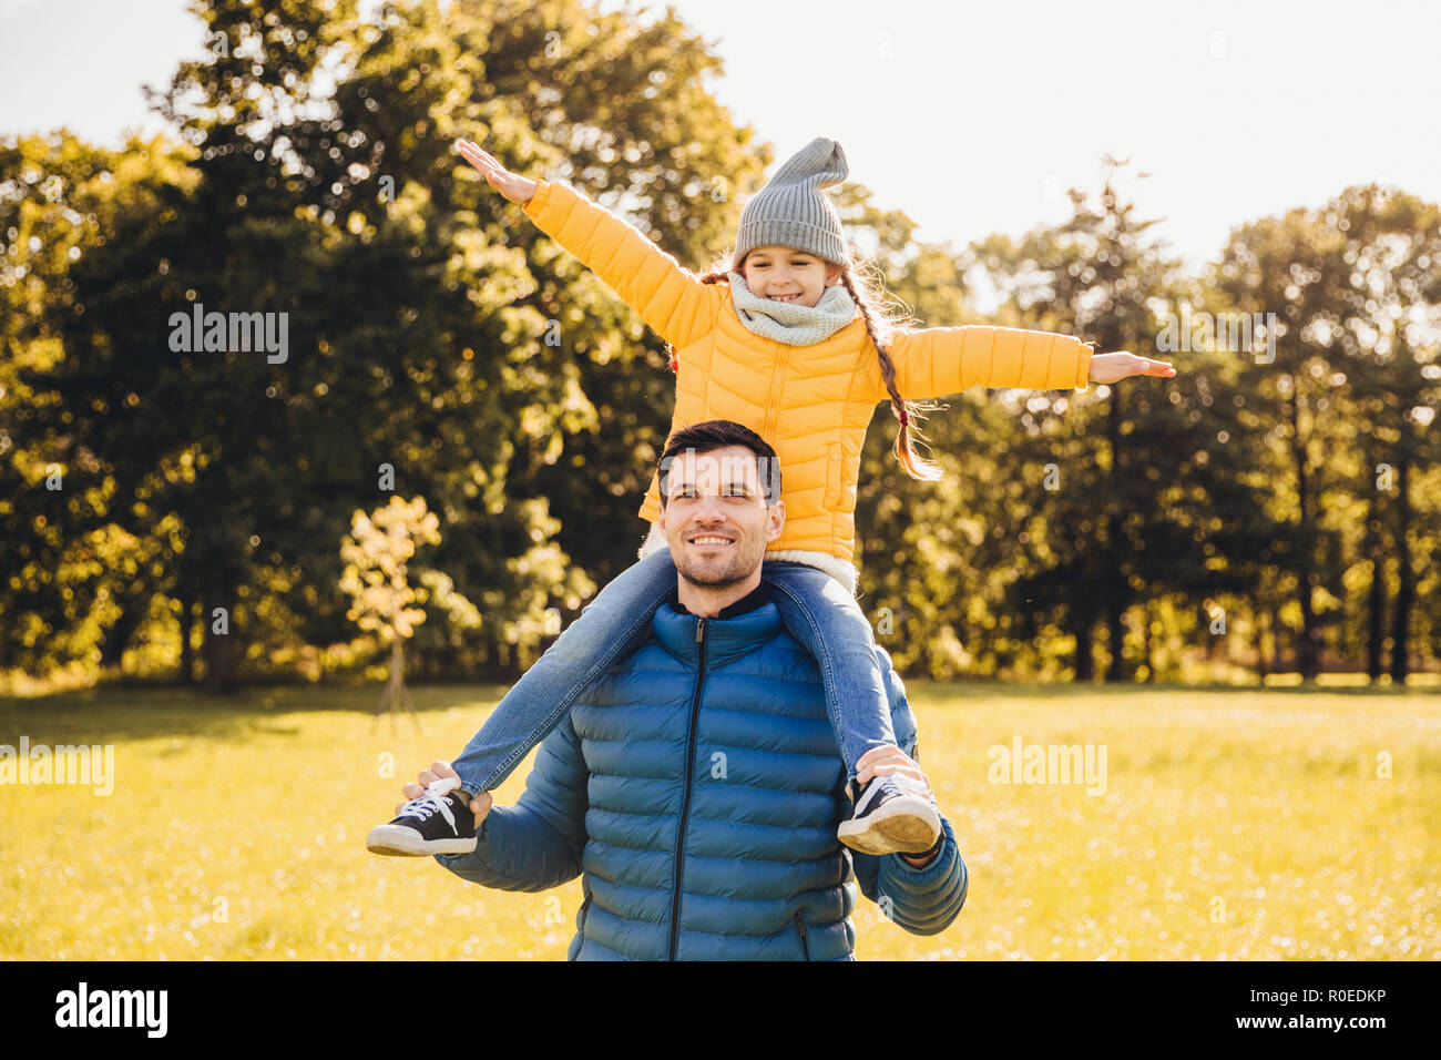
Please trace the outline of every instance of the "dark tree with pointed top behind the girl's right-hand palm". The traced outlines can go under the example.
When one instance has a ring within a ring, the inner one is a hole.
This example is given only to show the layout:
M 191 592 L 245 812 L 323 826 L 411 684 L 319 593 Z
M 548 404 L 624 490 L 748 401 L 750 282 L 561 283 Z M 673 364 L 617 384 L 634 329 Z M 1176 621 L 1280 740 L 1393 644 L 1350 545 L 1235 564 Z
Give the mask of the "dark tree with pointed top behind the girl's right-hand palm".
M 1197 614 L 1192 632 L 1205 629 L 1244 590 L 1270 529 L 1259 483 L 1246 477 L 1254 417 L 1236 389 L 1239 352 L 1161 342 L 1183 303 L 1219 307 L 1146 237 L 1154 221 L 1133 216 L 1114 176 L 1098 209 L 1082 193 L 1071 198 L 1075 213 L 1058 229 L 974 247 L 973 261 L 1001 293 L 1000 322 L 1172 361 L 1177 375 L 1091 394 L 999 395 L 997 411 L 1022 428 L 1009 430 L 994 480 L 977 490 L 999 508 L 989 558 L 1006 580 L 1000 624 L 1023 645 L 1058 623 L 1075 643 L 1078 681 L 1092 678 L 1098 623 L 1105 679 L 1127 679 L 1127 629 L 1140 627 L 1138 662 L 1154 676 L 1154 607 L 1174 597 Z

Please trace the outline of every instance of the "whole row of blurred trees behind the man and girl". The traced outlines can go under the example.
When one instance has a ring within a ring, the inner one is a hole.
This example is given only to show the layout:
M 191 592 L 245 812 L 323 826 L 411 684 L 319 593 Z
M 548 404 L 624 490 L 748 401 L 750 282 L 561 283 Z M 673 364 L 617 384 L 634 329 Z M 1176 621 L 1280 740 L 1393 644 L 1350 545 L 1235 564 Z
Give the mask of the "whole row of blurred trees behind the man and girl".
M 634 561 L 674 381 L 660 339 L 454 140 L 572 183 L 697 271 L 771 149 L 669 13 L 193 10 L 208 53 L 154 100 L 173 136 L 0 140 L 0 673 L 229 688 L 363 666 L 339 542 L 403 493 L 478 619 L 428 594 L 412 672 L 514 676 Z M 1133 215 L 1136 179 L 1115 164 L 1066 224 L 960 249 L 839 190 L 919 326 L 1177 368 L 950 395 L 924 424 L 931 485 L 899 472 L 878 407 L 857 525 L 880 643 L 934 676 L 1435 669 L 1438 208 L 1343 189 L 1238 226 L 1192 277 Z M 174 350 L 170 316 L 196 304 L 285 313 L 288 355 Z M 1274 358 L 1160 350 L 1183 306 L 1274 313 Z

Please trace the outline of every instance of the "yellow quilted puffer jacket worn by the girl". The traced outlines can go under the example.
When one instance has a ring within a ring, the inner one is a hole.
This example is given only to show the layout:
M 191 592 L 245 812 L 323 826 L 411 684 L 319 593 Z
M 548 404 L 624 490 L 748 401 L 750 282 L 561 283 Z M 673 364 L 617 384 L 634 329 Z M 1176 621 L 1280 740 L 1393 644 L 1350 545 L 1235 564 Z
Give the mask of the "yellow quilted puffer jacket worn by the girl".
M 706 420 L 732 420 L 775 449 L 785 528 L 767 558 L 824 552 L 850 567 L 860 447 L 876 404 L 891 401 L 860 312 L 810 346 L 765 339 L 741 323 L 729 284 L 700 283 L 633 225 L 574 187 L 537 183 L 525 206 L 536 226 L 674 346 L 670 434 Z M 1084 389 L 1091 374 L 1091 348 L 1079 339 L 1014 327 L 902 330 L 889 352 L 896 388 L 908 401 L 976 385 Z M 651 476 L 640 509 L 650 522 L 660 516 L 659 479 L 659 472 Z

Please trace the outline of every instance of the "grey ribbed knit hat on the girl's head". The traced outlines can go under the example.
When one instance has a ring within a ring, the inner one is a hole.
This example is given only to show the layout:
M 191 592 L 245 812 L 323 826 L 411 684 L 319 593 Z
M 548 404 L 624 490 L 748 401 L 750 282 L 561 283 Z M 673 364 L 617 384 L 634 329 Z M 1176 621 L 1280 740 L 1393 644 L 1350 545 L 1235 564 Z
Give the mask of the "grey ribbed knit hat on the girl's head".
M 793 154 L 741 211 L 732 268 L 757 247 L 794 247 L 836 265 L 850 255 L 840 231 L 840 213 L 820 189 L 834 187 L 850 175 L 846 153 L 818 136 Z

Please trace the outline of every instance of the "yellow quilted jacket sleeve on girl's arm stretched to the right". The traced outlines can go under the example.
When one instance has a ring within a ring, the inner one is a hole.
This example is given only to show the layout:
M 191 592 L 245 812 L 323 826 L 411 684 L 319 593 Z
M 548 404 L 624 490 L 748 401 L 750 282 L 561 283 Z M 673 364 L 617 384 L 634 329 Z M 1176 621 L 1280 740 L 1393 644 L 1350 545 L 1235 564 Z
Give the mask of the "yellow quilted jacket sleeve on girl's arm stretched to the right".
M 940 398 L 970 387 L 1085 389 L 1092 346 L 1069 335 L 1019 327 L 925 327 L 891 342 L 896 388 L 906 399 Z M 873 374 L 879 382 L 880 372 Z M 888 401 L 880 385 L 876 401 Z

